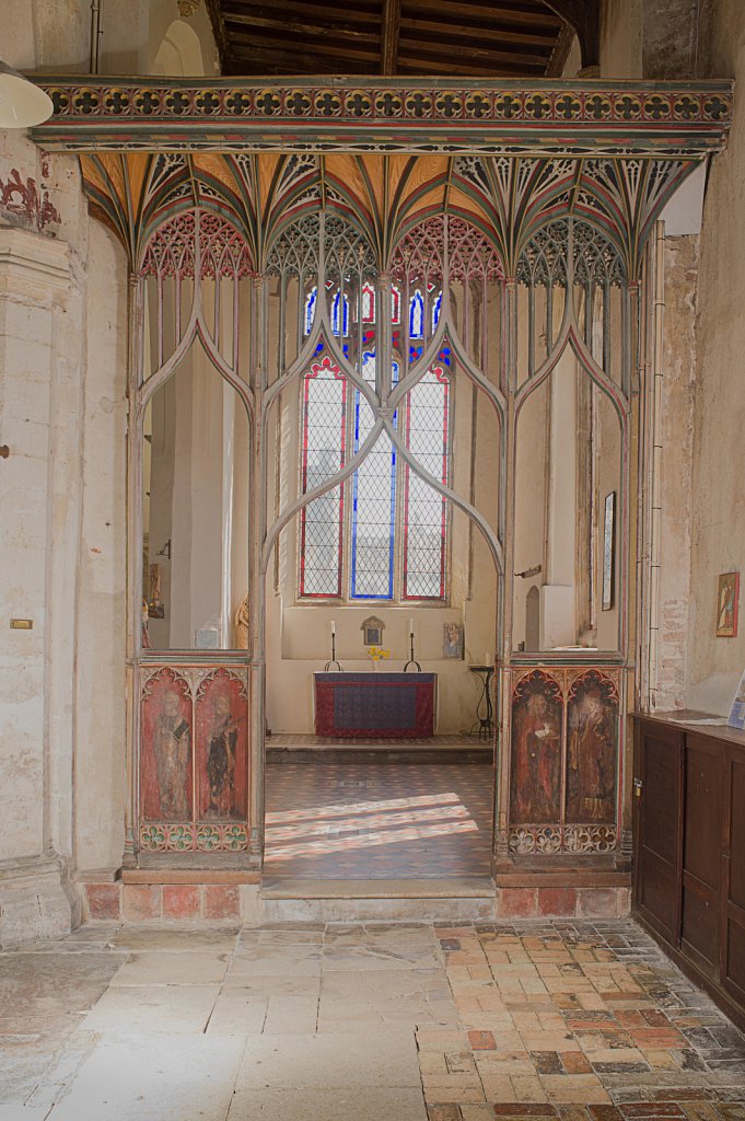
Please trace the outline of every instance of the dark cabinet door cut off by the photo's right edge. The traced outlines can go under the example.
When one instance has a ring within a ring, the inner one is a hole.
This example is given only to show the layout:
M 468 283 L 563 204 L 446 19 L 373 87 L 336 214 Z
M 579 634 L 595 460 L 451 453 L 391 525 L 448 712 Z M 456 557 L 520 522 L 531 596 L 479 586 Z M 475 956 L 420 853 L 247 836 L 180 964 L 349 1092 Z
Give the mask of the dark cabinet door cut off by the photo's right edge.
M 745 751 L 730 748 L 726 767 L 721 982 L 745 1009 Z

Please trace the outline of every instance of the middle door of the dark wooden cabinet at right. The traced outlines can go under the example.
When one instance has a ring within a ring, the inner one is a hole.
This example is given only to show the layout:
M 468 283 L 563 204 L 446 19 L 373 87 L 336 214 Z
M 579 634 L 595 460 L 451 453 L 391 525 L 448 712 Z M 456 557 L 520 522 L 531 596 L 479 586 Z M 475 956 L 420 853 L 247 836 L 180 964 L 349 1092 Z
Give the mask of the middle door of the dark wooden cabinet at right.
M 719 975 L 719 891 L 724 844 L 723 750 L 686 736 L 681 946 L 713 980 Z

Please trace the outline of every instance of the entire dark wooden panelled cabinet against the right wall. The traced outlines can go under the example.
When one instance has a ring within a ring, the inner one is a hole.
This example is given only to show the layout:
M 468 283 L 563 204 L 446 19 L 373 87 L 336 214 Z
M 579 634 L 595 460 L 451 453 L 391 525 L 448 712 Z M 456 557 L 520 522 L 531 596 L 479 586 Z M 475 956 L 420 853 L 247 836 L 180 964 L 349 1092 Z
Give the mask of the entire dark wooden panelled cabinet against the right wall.
M 634 906 L 745 1023 L 745 734 L 635 716 Z

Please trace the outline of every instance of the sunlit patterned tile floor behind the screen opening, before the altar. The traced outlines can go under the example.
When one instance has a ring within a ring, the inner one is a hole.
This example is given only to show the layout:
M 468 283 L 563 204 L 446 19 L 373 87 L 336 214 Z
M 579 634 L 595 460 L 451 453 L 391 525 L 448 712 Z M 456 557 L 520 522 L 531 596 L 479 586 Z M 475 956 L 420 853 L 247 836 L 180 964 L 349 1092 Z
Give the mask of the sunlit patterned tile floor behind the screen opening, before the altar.
M 481 763 L 267 767 L 268 877 L 488 876 L 492 769 Z

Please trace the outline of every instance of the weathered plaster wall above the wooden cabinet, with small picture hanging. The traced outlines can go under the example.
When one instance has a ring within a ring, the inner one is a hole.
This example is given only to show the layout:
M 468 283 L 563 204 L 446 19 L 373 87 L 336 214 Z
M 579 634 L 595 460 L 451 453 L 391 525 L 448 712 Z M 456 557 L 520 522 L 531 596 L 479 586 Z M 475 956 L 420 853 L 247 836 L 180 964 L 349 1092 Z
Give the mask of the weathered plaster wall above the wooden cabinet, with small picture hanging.
M 700 77 L 745 82 L 745 7 L 707 6 Z M 745 666 L 745 626 L 716 638 L 719 573 L 745 563 L 745 112 L 737 101 L 727 150 L 709 174 L 701 228 L 693 414 L 688 705 L 726 713 Z M 741 591 L 741 610 L 743 592 Z

